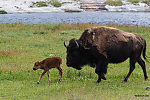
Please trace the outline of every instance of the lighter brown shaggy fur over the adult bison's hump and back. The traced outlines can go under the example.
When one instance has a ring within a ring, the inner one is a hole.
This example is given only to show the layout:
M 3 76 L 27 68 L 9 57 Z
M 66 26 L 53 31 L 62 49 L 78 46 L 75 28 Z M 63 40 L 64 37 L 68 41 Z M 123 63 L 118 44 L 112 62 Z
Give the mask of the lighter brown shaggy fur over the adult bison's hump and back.
M 79 40 L 84 48 L 96 47 L 107 58 L 106 49 L 111 43 L 128 42 L 131 36 L 131 33 L 115 28 L 96 27 L 85 30 Z

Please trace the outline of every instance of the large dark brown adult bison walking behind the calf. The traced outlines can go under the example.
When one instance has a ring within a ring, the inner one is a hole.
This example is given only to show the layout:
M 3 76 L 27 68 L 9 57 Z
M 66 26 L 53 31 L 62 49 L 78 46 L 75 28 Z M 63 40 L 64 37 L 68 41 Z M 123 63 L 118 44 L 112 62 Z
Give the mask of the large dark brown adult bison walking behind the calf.
M 120 63 L 130 58 L 130 70 L 124 82 L 128 81 L 130 74 L 135 69 L 135 63 L 142 67 L 145 80 L 148 78 L 145 62 L 146 41 L 139 35 L 123 32 L 115 28 L 95 27 L 86 29 L 81 37 L 71 39 L 67 48 L 67 66 L 78 70 L 83 65 L 96 67 L 98 74 L 97 83 L 106 80 L 108 63 Z

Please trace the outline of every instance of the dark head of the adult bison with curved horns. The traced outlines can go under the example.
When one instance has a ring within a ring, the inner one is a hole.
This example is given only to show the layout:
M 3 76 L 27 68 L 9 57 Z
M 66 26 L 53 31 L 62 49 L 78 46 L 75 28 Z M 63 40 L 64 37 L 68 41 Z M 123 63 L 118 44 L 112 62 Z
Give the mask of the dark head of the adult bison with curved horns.
M 64 46 L 67 49 L 67 56 L 66 56 L 67 66 L 80 70 L 81 66 L 85 65 L 85 61 L 83 58 L 82 47 L 79 44 L 79 41 L 71 39 L 69 41 L 69 45 L 66 46 L 64 42 Z

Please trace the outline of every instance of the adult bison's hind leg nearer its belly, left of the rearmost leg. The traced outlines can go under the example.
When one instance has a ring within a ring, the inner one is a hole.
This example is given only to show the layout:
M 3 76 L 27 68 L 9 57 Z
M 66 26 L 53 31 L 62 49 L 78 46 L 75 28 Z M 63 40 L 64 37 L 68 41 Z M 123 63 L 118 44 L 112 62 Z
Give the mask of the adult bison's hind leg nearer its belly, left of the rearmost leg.
M 134 58 L 133 59 L 130 58 L 130 70 L 129 70 L 129 73 L 127 74 L 126 78 L 124 79 L 124 82 L 128 81 L 129 76 L 131 75 L 131 73 L 135 69 L 135 63 L 136 63 L 136 60 Z

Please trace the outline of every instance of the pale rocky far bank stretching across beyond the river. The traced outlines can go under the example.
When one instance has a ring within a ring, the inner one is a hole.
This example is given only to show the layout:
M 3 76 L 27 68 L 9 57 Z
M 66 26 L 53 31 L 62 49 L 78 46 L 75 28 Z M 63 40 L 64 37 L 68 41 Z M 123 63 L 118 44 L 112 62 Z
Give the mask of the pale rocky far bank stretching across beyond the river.
M 15 12 L 80 12 L 103 11 L 150 11 L 150 5 L 140 1 L 131 3 L 121 0 L 122 5 L 110 5 L 106 0 L 0 0 L 0 10 Z

